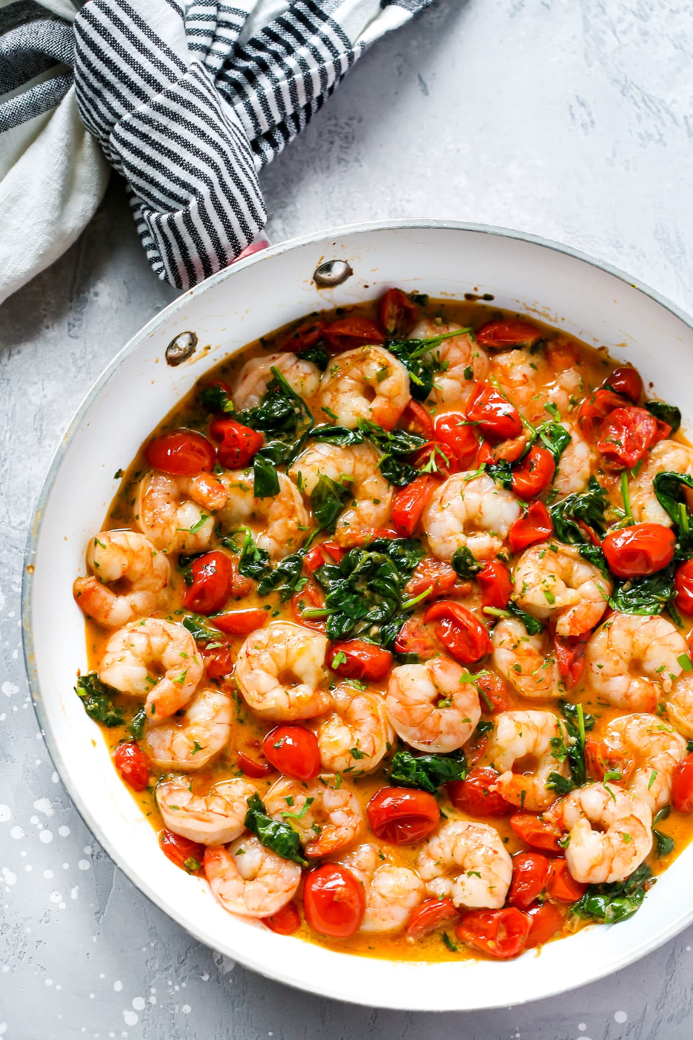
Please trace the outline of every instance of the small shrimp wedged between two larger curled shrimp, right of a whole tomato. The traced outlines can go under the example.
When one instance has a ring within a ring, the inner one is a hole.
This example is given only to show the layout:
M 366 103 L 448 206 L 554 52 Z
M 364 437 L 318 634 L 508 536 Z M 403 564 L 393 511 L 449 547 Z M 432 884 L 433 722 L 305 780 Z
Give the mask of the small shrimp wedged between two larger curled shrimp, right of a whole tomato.
M 318 727 L 320 760 L 326 770 L 351 776 L 372 773 L 395 739 L 379 694 L 340 683 L 332 690 L 332 711 Z

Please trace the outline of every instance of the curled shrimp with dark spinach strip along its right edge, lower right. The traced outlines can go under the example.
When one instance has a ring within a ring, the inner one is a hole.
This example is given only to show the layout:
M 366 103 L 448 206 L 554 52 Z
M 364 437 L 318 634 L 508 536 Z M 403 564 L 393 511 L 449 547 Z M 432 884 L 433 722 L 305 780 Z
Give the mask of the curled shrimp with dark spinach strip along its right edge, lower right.
M 548 809 L 556 794 L 545 783 L 551 773 L 568 776 L 568 744 L 565 725 L 551 711 L 502 711 L 484 753 L 501 773 L 495 789 L 530 812 Z M 513 773 L 515 764 L 518 772 Z

